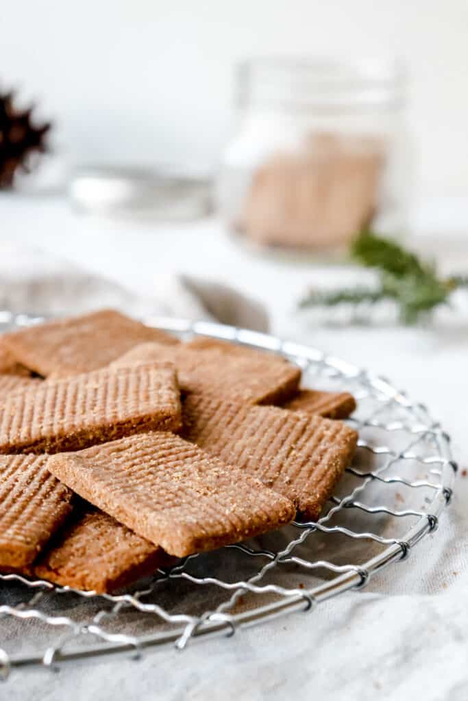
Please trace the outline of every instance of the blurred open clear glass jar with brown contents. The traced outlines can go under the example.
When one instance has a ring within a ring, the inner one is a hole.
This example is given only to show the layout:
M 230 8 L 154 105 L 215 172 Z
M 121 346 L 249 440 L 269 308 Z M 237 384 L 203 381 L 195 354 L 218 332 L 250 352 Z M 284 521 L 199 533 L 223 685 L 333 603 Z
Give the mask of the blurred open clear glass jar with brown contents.
M 220 212 L 261 245 L 345 249 L 406 223 L 410 162 L 400 64 L 263 59 L 238 71 L 239 128 Z

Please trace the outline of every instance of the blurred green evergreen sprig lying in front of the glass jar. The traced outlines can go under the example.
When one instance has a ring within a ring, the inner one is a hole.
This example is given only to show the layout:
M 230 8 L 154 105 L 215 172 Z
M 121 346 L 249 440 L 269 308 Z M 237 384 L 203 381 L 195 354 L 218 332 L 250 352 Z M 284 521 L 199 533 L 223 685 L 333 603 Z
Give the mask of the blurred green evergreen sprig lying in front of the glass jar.
M 468 287 L 468 276 L 441 278 L 436 268 L 422 261 L 393 240 L 377 236 L 369 229 L 361 231 L 351 247 L 352 258 L 378 273 L 376 287 L 345 287 L 332 292 L 311 290 L 300 307 L 376 304 L 393 300 L 404 324 L 415 324 L 441 304 L 448 304 L 450 294 Z

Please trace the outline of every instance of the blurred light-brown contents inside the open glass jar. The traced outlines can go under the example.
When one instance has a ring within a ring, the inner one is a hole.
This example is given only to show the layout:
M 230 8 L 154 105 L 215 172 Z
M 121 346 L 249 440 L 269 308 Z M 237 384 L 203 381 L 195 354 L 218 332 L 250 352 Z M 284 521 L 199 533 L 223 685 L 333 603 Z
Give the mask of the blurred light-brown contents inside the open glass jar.
M 346 245 L 375 214 L 383 161 L 381 139 L 311 135 L 254 173 L 241 229 L 265 245 Z

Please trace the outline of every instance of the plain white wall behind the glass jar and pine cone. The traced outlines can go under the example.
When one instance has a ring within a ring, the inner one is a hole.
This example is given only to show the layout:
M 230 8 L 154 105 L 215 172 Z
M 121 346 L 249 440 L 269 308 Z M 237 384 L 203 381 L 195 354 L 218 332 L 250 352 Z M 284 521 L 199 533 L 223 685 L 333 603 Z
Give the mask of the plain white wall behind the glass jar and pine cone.
M 417 195 L 468 196 L 467 0 L 0 0 L 0 83 L 79 162 L 215 165 L 237 60 L 398 55 Z

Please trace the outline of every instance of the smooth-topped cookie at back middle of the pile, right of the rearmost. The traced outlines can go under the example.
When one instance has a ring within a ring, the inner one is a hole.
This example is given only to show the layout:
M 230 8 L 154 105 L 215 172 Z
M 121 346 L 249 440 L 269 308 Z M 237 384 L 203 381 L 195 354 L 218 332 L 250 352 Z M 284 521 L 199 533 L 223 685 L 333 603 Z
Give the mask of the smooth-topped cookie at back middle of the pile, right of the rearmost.
M 203 341 L 200 346 L 180 343 L 171 348 L 145 343 L 112 366 L 150 358 L 171 360 L 183 392 L 232 397 L 248 404 L 276 404 L 297 393 L 300 368 L 284 358 L 214 339 Z

